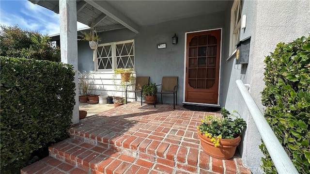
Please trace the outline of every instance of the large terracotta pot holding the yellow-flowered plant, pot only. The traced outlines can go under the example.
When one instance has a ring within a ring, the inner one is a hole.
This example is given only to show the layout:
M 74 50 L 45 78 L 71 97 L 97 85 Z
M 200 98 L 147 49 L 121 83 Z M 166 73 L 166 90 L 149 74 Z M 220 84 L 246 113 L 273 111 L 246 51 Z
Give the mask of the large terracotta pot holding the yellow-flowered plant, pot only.
M 207 138 L 204 134 L 200 133 L 198 130 L 198 136 L 200 138 L 200 143 L 202 145 L 202 150 L 210 155 L 211 157 L 218 159 L 230 159 L 236 151 L 236 147 L 241 142 L 241 137 L 238 136 L 234 139 L 220 139 L 219 147 L 214 147 L 214 143 L 211 142 L 210 138 Z

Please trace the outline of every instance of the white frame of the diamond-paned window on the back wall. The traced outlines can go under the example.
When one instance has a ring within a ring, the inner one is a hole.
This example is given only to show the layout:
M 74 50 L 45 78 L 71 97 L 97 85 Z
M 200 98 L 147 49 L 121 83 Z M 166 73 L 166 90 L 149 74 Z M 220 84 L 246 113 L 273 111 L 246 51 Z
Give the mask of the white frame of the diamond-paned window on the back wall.
M 133 55 L 135 57 L 135 40 L 131 39 L 131 40 L 125 40 L 125 41 L 119 41 L 119 42 L 110 42 L 110 43 L 103 43 L 103 44 L 98 44 L 98 47 L 103 47 L 103 46 L 111 46 L 111 57 L 112 57 L 112 69 L 98 69 L 98 59 L 100 59 L 101 57 L 98 57 L 98 52 L 97 56 L 96 56 L 96 61 L 94 62 L 94 71 L 95 72 L 112 72 L 116 69 L 116 45 L 119 44 L 126 44 L 126 43 L 133 43 Z M 133 64 L 135 66 L 135 62 L 136 59 L 134 59 Z

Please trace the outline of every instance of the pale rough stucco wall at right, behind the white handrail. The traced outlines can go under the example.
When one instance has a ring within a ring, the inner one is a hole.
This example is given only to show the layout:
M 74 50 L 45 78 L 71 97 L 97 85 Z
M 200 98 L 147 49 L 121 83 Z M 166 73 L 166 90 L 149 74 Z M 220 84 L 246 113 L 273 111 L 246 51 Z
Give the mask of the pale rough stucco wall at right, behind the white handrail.
M 235 58 L 222 62 L 222 67 L 225 69 L 222 78 L 225 79 L 225 85 L 228 85 L 222 90 L 223 103 L 228 110 L 236 109 L 247 120 L 247 131 L 239 150 L 244 163 L 252 173 L 262 173 L 259 167 L 262 156 L 258 148 L 261 144 L 260 135 L 240 96 L 235 80 L 241 79 L 244 83 L 250 84 L 250 94 L 263 111 L 260 92 L 264 87 L 264 57 L 272 52 L 279 42 L 291 42 L 303 35 L 308 36 L 310 32 L 309 9 L 309 0 L 245 0 L 242 15 L 247 15 L 247 26 L 245 30 L 241 30 L 240 39 L 251 36 L 249 63 L 247 66 L 235 65 Z M 227 18 L 226 21 L 228 21 Z

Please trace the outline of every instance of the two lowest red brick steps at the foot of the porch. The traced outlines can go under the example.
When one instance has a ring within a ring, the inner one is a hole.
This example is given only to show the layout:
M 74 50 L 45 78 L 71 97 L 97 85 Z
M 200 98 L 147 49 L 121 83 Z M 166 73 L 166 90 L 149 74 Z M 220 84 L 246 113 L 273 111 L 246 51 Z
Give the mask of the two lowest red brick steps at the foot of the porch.
M 188 173 L 174 166 L 174 162 L 164 158 L 137 158 L 113 149 L 67 139 L 50 146 L 49 157 L 22 169 L 21 174 L 56 174 L 55 171 L 66 174 L 77 171 L 80 172 L 76 174 Z

